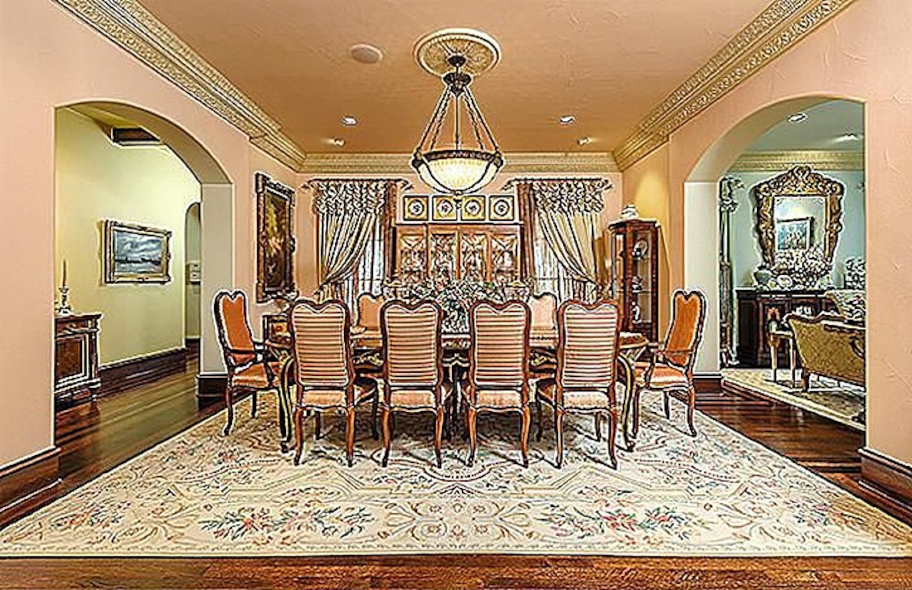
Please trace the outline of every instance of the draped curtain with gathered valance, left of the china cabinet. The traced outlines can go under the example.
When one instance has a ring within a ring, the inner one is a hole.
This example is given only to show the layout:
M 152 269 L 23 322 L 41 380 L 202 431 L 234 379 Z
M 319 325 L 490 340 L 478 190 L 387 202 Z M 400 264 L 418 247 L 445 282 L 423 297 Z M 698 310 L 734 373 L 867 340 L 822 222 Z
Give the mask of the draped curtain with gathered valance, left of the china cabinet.
M 340 297 L 341 285 L 361 260 L 378 224 L 385 222 L 397 181 L 312 181 L 319 216 L 319 297 Z

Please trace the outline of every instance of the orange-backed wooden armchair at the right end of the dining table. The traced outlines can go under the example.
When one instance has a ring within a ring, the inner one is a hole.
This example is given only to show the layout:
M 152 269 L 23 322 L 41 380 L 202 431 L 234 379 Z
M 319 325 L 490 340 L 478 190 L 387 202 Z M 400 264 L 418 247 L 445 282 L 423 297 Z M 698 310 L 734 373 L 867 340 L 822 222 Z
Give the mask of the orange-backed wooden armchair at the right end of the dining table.
M 665 342 L 658 347 L 648 362 L 635 365 L 636 382 L 633 398 L 633 434 L 639 432 L 639 396 L 643 389 L 661 391 L 664 398 L 665 417 L 671 418 L 669 398 L 687 404 L 687 423 L 690 436 L 697 436 L 693 413 L 697 407 L 697 390 L 693 385 L 693 366 L 703 339 L 706 323 L 706 295 L 699 290 L 678 289 L 671 296 L 671 326 Z

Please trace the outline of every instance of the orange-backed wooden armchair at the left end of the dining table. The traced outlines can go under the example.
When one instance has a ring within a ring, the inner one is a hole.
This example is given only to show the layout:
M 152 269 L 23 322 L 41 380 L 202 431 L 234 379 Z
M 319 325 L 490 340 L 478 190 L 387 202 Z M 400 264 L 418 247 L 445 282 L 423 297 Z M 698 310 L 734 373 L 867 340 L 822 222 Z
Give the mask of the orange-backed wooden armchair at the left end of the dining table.
M 243 291 L 221 290 L 212 299 L 212 317 L 215 322 L 215 332 L 225 367 L 228 370 L 228 379 L 225 386 L 224 401 L 228 409 L 228 421 L 222 431 L 224 436 L 231 432 L 234 423 L 234 397 L 243 391 L 251 391 L 253 407 L 250 410 L 252 418 L 256 417 L 257 393 L 260 391 L 275 390 L 280 393 L 281 367 L 275 360 L 267 355 L 267 349 L 262 342 L 254 340 L 254 331 L 250 327 L 247 316 L 247 295 Z M 285 432 L 285 405 L 279 400 L 279 425 L 282 429 L 283 446 L 287 438 Z

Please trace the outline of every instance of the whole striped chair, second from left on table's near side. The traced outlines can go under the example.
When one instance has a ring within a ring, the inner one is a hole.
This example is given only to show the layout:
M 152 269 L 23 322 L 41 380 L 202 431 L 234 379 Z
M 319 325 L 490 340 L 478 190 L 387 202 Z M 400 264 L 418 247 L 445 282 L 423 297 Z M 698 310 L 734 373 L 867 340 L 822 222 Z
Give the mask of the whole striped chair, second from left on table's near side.
M 443 310 L 433 301 L 409 305 L 388 301 L 380 309 L 383 332 L 383 466 L 389 461 L 389 414 L 434 412 L 434 450 L 442 467 L 440 444 L 449 388 L 443 387 Z

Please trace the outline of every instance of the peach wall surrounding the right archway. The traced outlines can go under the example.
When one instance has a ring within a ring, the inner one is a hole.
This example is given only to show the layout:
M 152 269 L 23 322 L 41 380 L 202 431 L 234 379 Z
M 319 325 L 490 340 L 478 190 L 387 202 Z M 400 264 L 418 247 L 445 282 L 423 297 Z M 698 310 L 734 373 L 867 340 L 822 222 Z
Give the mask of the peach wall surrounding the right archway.
M 773 103 L 799 97 L 865 102 L 867 444 L 912 462 L 912 3 L 865 0 L 822 26 L 668 140 L 670 286 L 683 282 L 684 182 L 725 133 Z M 731 160 L 737 152 L 731 154 Z M 626 199 L 661 159 L 625 173 Z M 720 176 L 724 169 L 718 169 Z M 717 176 L 718 178 L 718 176 Z M 706 178 L 690 180 L 708 180 Z

